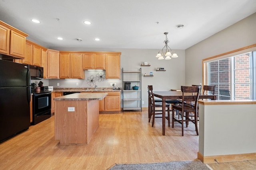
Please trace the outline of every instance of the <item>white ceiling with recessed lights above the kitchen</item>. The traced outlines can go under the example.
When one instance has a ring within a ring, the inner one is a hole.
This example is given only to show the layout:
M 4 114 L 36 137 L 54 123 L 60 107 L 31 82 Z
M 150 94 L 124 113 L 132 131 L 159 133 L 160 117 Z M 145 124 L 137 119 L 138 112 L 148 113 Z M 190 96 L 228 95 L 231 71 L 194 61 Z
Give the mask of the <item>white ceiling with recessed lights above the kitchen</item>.
M 164 32 L 187 49 L 255 12 L 256 0 L 0 0 L 0 20 L 52 49 L 162 49 Z

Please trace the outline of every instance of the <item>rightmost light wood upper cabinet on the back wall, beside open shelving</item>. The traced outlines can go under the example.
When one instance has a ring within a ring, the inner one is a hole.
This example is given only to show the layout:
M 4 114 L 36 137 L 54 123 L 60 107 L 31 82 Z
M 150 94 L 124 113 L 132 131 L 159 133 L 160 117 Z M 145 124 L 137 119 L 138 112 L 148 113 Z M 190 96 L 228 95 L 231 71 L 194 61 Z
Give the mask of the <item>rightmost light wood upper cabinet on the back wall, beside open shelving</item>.
M 119 52 L 106 54 L 106 79 L 120 79 L 120 55 Z

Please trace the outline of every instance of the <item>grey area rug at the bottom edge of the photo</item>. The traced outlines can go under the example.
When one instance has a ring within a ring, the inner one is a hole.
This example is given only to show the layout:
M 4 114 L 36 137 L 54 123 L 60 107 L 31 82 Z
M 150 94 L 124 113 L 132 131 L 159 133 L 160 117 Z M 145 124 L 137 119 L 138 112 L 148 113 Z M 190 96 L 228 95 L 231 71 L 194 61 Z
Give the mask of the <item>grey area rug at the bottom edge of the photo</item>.
M 210 170 L 200 160 L 147 164 L 115 164 L 108 170 Z

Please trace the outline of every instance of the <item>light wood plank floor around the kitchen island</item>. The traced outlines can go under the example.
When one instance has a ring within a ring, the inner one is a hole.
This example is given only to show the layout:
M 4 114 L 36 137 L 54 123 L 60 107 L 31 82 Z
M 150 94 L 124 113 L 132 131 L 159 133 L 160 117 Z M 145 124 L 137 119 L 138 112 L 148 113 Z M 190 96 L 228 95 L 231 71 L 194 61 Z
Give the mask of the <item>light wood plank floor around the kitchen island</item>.
M 195 160 L 198 136 L 190 123 L 181 136 L 181 126 L 166 127 L 162 119 L 154 127 L 147 110 L 100 114 L 100 126 L 89 145 L 59 145 L 54 140 L 54 116 L 0 144 L 2 170 L 106 170 L 115 163 Z M 167 122 L 166 122 L 167 123 Z M 218 169 L 256 169 L 255 161 L 210 164 Z M 239 168 L 237 168 L 239 167 Z

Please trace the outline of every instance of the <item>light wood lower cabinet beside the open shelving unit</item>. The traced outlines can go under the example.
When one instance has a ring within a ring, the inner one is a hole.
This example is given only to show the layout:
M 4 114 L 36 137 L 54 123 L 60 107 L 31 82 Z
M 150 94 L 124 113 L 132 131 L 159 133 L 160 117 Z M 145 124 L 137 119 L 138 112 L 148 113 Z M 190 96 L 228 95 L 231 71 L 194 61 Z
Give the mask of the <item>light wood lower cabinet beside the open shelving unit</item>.
M 81 92 L 81 93 L 108 93 L 103 100 L 99 100 L 100 112 L 120 112 L 120 92 Z

